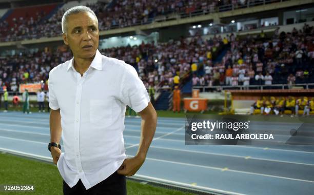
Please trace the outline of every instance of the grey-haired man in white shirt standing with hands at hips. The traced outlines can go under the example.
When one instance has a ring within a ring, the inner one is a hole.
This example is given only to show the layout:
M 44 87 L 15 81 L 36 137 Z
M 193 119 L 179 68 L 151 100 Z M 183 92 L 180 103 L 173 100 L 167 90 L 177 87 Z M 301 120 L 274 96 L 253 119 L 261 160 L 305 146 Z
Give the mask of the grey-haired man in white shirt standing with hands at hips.
M 48 149 L 64 180 L 63 192 L 126 194 L 125 175 L 135 174 L 145 161 L 156 112 L 135 69 L 97 50 L 99 28 L 92 10 L 69 9 L 62 30 L 73 59 L 49 73 Z M 130 159 L 123 139 L 126 105 L 142 118 L 139 149 Z

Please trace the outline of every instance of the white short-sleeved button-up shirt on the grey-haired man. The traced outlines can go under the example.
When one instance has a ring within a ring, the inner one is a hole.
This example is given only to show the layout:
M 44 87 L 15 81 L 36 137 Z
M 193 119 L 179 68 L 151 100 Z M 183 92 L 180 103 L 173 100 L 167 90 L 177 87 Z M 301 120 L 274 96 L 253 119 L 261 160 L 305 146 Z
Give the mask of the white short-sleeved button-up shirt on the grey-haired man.
M 83 76 L 73 62 L 50 71 L 49 105 L 61 113 L 64 152 L 58 170 L 70 187 L 81 179 L 89 189 L 122 165 L 126 105 L 140 112 L 149 96 L 135 69 L 123 61 L 97 50 Z

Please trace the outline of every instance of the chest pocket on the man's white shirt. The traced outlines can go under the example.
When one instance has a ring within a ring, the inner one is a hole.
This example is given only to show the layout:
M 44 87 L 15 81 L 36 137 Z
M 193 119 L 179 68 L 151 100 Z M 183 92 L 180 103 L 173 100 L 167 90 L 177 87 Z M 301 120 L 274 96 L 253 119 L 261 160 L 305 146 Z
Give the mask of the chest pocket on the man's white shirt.
M 91 100 L 89 121 L 96 127 L 109 127 L 112 123 L 112 104 L 109 100 Z

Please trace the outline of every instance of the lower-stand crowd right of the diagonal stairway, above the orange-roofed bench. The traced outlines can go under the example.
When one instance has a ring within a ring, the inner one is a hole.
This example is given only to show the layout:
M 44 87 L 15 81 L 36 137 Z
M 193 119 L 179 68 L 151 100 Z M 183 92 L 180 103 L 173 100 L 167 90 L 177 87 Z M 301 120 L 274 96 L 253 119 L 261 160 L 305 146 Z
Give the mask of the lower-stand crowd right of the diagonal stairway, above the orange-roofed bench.
M 272 85 L 313 83 L 314 28 L 280 32 L 271 38 L 263 31 L 245 38 L 227 36 L 230 49 L 222 61 L 205 65 L 204 74 L 194 75 L 193 86 Z

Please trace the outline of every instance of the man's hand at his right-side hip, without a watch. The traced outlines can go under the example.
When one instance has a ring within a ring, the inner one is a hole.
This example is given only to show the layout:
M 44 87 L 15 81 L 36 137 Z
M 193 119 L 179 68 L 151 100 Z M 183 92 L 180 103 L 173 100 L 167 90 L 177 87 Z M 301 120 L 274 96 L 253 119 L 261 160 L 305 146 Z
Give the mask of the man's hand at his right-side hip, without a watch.
M 120 168 L 117 170 L 117 173 L 132 176 L 140 169 L 144 161 L 145 157 L 141 157 L 140 155 L 136 155 L 130 159 L 125 159 Z

